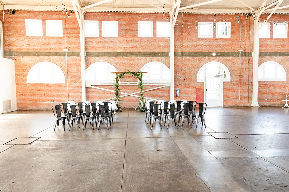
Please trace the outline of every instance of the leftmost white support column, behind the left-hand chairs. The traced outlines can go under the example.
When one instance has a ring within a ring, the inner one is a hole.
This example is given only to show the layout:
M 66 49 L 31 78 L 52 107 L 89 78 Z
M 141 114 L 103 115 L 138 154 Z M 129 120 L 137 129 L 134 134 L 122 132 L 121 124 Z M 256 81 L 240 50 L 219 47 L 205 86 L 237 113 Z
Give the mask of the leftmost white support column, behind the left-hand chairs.
M 80 60 L 81 60 L 81 96 L 82 101 L 86 101 L 85 88 L 85 41 L 84 41 L 84 14 L 86 11 L 79 10 L 80 27 Z M 76 13 L 77 14 L 77 13 Z

